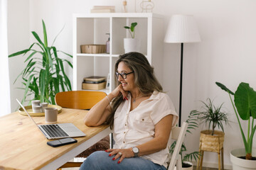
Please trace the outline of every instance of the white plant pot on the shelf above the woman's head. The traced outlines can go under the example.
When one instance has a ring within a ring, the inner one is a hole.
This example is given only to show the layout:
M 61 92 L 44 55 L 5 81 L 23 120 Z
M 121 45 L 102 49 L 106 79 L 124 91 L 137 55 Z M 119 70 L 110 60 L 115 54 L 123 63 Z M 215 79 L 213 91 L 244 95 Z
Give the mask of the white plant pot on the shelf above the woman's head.
M 140 52 L 140 40 L 135 38 L 124 38 L 124 52 Z

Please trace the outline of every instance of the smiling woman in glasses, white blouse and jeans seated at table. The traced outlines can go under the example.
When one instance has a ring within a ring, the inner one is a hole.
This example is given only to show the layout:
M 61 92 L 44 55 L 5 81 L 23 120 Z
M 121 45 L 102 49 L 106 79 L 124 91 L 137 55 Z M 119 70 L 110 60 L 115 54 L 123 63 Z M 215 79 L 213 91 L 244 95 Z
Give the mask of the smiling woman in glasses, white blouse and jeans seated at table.
M 139 52 L 119 56 L 119 85 L 85 116 L 85 125 L 109 123 L 114 149 L 92 153 L 80 169 L 166 169 L 169 135 L 178 116 Z

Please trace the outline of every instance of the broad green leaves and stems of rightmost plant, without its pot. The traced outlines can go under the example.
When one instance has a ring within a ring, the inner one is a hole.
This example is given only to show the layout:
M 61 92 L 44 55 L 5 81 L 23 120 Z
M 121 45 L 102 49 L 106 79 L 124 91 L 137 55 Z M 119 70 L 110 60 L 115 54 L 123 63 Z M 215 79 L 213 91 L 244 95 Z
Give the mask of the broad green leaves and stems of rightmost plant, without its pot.
M 254 120 L 256 118 L 256 91 L 254 91 L 249 84 L 244 82 L 239 84 L 235 94 L 223 84 L 220 84 L 219 82 L 216 82 L 216 84 L 221 89 L 228 92 L 236 118 L 238 119 L 242 140 L 245 145 L 245 159 L 252 159 L 252 140 L 256 130 L 256 125 L 254 125 Z M 235 106 L 230 95 L 234 96 Z M 242 130 L 238 115 L 242 120 L 247 120 L 247 139 Z

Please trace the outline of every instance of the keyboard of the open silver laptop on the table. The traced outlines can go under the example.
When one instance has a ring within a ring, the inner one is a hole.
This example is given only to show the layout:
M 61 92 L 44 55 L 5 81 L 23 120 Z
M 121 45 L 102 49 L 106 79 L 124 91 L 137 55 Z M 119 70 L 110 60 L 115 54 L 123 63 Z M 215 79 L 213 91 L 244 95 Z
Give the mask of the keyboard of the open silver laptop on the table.
M 50 137 L 68 137 L 68 134 L 64 132 L 58 125 L 41 125 Z

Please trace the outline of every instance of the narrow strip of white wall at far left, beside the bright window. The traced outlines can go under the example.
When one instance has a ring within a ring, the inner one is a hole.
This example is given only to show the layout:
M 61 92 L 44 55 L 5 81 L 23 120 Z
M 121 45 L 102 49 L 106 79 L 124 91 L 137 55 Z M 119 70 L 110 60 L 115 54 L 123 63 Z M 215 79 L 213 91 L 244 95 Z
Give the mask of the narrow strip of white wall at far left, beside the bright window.
M 8 50 L 9 55 L 14 52 L 25 50 L 29 47 L 29 0 L 16 1 L 8 0 Z M 24 69 L 24 57 L 9 58 L 9 72 L 11 84 L 11 112 L 16 111 L 18 103 L 16 98 L 20 101 L 23 98 L 23 90 L 21 87 L 21 79 L 18 79 L 14 84 L 15 79 L 21 70 Z

